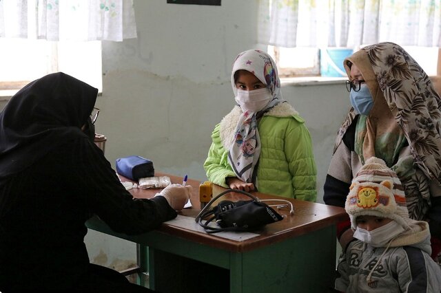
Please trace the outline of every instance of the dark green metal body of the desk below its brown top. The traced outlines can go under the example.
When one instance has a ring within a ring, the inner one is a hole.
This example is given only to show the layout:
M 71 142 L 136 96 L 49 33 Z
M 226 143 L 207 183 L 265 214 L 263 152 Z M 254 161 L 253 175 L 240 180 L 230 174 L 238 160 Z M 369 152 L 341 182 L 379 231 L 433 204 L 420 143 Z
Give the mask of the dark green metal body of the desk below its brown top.
M 334 282 L 336 269 L 334 224 L 247 252 L 222 250 L 157 230 L 138 236 L 122 235 L 113 232 L 97 217 L 90 219 L 87 226 L 138 243 L 139 265 L 143 272 L 149 272 L 149 287 L 152 290 L 161 290 L 161 287 L 156 286 L 161 276 L 167 275 L 167 278 L 170 278 L 170 275 L 178 273 L 185 277 L 185 272 L 172 272 L 172 270 L 157 272 L 155 268 L 156 262 L 159 261 L 158 252 L 229 270 L 230 292 L 321 293 L 327 292 Z M 170 269 L 172 266 L 170 264 Z M 140 283 L 145 283 L 143 274 L 140 276 Z M 179 292 L 178 289 L 176 292 Z

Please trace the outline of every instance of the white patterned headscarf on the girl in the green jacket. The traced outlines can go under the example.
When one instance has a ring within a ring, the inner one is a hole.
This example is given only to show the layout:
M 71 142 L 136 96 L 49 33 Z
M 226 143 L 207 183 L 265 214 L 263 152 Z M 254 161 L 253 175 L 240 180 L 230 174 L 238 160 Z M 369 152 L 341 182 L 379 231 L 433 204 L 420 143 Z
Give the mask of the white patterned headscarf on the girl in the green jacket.
M 260 50 L 247 50 L 236 57 L 232 70 L 232 87 L 234 96 L 237 96 L 234 74 L 238 70 L 247 70 L 264 83 L 272 95 L 272 100 L 264 109 L 257 113 L 245 111 L 241 113 L 234 134 L 234 142 L 229 148 L 228 162 L 236 176 L 243 182 L 254 183 L 254 169 L 260 157 L 260 137 L 257 128 L 257 119 L 282 100 L 280 79 L 278 78 L 276 63 L 271 56 Z

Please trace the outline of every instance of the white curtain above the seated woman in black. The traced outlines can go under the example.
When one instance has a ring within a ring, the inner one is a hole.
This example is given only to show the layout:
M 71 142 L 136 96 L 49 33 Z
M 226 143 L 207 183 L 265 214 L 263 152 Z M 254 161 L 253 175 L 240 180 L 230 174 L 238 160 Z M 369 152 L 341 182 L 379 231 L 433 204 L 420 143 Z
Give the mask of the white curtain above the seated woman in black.
M 136 38 L 132 0 L 1 0 L 0 37 L 48 41 Z

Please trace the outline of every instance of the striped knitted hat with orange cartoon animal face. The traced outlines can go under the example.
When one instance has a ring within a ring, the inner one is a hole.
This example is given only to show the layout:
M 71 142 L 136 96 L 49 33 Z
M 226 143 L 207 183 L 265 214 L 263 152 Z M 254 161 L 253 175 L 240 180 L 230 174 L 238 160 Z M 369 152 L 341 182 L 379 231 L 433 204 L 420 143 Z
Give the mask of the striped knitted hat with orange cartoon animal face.
M 345 209 L 353 229 L 357 227 L 356 218 L 360 215 L 386 217 L 397 221 L 404 230 L 410 228 L 411 219 L 401 182 L 383 160 L 369 158 L 349 189 Z

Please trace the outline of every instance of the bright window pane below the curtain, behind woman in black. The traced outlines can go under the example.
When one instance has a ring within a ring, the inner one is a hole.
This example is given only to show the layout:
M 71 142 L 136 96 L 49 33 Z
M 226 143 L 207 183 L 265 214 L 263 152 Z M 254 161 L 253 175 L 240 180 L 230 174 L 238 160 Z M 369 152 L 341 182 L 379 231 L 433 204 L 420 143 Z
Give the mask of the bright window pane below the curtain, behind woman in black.
M 14 94 L 30 81 L 64 72 L 102 91 L 101 41 L 0 38 L 0 91 Z

